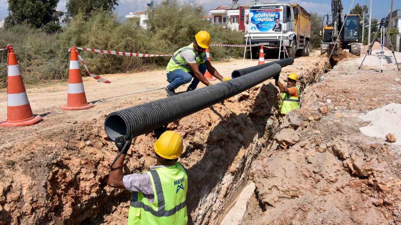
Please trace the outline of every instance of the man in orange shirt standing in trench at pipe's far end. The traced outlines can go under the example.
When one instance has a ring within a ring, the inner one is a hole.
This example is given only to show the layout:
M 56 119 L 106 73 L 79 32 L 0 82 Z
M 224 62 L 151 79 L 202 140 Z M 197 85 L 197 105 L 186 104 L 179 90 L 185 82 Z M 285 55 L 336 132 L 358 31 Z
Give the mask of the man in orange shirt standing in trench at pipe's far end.
M 291 110 L 300 108 L 300 88 L 296 86 L 298 81 L 298 75 L 296 73 L 290 73 L 287 79 L 287 85 L 281 84 L 279 79 L 279 74 L 275 77 L 275 85 L 280 89 L 282 93 L 279 110 L 282 115 L 286 115 L 287 112 Z

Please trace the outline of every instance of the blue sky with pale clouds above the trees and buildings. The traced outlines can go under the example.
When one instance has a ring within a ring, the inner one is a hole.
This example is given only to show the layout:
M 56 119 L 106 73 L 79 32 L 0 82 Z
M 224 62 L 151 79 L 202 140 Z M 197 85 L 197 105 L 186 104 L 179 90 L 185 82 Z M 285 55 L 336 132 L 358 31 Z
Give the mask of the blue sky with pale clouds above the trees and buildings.
M 57 9 L 64 11 L 65 10 L 65 2 L 67 0 L 60 0 Z M 124 16 L 125 14 L 129 14 L 130 12 L 135 12 L 136 10 L 144 10 L 146 8 L 146 1 L 148 0 L 119 0 L 119 6 L 117 7 L 117 12 L 120 16 Z M 188 2 L 188 0 L 181 0 Z M 160 2 L 160 0 L 155 1 Z M 231 4 L 231 0 L 194 0 L 194 2 L 198 2 L 203 4 L 205 9 L 212 9 L 219 5 L 228 5 Z M 239 4 L 250 4 L 251 0 L 239 0 Z M 264 0 L 265 3 L 274 3 L 274 2 L 291 2 L 300 4 L 303 6 L 308 12 L 318 12 L 319 14 L 327 14 L 331 12 L 330 0 Z M 342 0 L 342 4 L 344 5 L 344 12 L 348 12 L 352 0 Z M 359 3 L 360 5 L 367 4 L 369 7 L 370 0 L 355 0 L 354 6 Z M 7 0 L 0 0 L 0 20 L 3 20 L 4 17 L 7 16 Z M 380 20 L 381 18 L 387 16 L 390 11 L 391 0 L 373 0 L 372 11 L 373 18 L 377 18 Z M 353 7 L 352 7 L 353 8 Z M 394 0 L 393 10 L 401 9 L 401 0 Z

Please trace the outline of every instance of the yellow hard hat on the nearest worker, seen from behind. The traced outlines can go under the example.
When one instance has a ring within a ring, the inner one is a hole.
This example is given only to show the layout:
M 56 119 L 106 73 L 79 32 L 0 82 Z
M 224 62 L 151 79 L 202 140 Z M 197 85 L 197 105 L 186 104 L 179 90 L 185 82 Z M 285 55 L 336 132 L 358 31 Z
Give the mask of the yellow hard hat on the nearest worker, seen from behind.
M 175 131 L 162 133 L 154 143 L 154 151 L 164 159 L 177 159 L 183 149 L 182 137 Z

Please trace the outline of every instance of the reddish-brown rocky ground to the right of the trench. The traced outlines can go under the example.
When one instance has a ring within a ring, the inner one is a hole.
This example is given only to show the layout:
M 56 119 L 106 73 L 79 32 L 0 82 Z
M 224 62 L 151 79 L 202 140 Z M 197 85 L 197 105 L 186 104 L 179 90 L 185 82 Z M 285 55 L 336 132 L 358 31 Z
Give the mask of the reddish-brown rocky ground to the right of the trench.
M 369 121 L 359 117 L 401 103 L 401 74 L 395 65 L 358 70 L 354 60 L 338 62 L 280 119 L 252 165 L 241 224 L 401 224 L 401 146 L 361 133 Z

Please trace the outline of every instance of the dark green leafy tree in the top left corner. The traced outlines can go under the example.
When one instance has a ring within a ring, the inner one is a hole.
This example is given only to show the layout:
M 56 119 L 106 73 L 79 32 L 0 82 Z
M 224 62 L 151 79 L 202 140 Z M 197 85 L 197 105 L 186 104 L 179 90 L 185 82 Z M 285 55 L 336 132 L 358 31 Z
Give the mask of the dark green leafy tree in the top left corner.
M 49 22 L 58 24 L 58 3 L 59 0 L 8 0 L 10 14 L 5 19 L 6 27 L 27 23 L 43 28 Z

